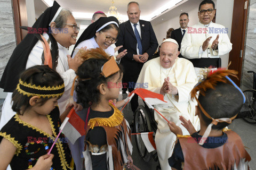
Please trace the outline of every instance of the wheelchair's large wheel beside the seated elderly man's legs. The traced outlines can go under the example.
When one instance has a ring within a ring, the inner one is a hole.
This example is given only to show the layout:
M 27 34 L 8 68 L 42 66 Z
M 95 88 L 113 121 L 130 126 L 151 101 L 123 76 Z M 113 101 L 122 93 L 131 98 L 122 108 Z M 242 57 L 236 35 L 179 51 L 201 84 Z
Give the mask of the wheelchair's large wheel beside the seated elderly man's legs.
M 134 114 L 134 130 L 135 133 L 151 132 L 150 120 L 148 117 L 148 109 L 140 105 Z M 146 146 L 144 145 L 141 135 L 135 135 L 136 146 L 139 151 L 140 156 L 145 162 L 149 162 L 151 158 L 151 153 L 148 152 Z

